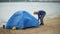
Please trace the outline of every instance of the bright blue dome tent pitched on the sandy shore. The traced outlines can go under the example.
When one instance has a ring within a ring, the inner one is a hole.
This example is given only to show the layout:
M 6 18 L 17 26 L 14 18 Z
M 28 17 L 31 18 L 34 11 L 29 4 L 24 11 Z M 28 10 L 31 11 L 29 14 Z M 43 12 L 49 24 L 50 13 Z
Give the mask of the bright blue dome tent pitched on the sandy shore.
M 11 29 L 12 27 L 16 27 L 18 29 L 39 26 L 38 20 L 30 15 L 26 11 L 17 11 L 14 13 L 11 18 L 8 20 L 5 28 Z

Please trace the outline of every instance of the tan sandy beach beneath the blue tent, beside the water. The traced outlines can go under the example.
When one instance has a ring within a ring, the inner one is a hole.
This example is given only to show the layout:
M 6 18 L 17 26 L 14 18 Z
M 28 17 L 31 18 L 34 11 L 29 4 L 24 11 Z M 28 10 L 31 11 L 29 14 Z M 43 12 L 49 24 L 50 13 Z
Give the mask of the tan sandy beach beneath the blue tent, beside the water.
M 0 28 L 0 34 L 60 34 L 60 18 L 45 19 L 44 24 L 37 28 L 25 30 L 6 30 Z

